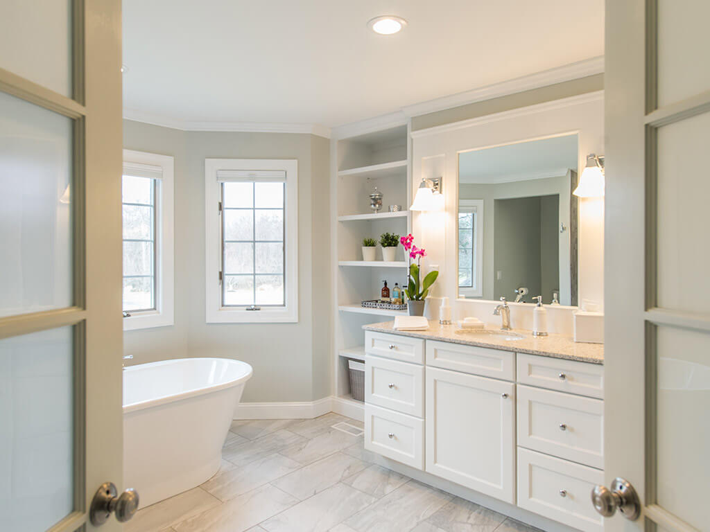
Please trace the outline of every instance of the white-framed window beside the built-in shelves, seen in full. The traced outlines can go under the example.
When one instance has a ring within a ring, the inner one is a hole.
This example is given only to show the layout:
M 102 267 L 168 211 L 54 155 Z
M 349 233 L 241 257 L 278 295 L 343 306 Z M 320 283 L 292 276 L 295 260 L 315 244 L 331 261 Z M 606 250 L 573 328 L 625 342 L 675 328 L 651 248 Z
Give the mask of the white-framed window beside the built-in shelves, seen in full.
M 208 323 L 297 321 L 297 161 L 205 160 Z

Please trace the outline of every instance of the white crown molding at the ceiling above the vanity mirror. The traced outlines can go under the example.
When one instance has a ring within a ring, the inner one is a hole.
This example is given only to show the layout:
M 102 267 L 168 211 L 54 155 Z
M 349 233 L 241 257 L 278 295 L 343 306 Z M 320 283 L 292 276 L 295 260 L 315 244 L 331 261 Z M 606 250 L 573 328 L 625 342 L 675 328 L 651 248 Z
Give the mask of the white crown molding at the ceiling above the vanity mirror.
M 516 92 L 524 92 L 531 89 L 540 89 L 547 85 L 569 82 L 581 77 L 593 76 L 604 72 L 604 57 L 593 57 L 584 61 L 578 61 L 564 65 L 562 67 L 544 70 L 535 74 L 509 79 L 501 83 L 494 83 L 479 89 L 473 89 L 451 96 L 444 96 L 420 104 L 413 104 L 403 107 L 405 116 L 420 116 L 436 111 L 444 111 L 467 104 L 474 104 L 476 101 L 484 101 L 501 96 L 508 96 Z

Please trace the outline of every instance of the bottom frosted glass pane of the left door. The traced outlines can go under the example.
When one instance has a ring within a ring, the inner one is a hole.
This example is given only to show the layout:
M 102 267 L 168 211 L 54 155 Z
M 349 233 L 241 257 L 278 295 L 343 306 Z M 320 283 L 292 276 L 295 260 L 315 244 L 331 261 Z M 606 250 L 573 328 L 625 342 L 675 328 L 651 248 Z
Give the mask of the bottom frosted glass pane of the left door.
M 2 530 L 45 531 L 73 510 L 72 328 L 0 340 Z

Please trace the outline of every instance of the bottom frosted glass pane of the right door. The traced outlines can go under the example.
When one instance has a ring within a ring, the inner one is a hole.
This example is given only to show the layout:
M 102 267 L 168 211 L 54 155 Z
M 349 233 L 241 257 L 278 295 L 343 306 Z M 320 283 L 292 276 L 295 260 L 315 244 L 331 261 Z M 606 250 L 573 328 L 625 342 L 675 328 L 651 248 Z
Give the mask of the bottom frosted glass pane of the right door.
M 657 331 L 657 504 L 707 530 L 710 334 Z

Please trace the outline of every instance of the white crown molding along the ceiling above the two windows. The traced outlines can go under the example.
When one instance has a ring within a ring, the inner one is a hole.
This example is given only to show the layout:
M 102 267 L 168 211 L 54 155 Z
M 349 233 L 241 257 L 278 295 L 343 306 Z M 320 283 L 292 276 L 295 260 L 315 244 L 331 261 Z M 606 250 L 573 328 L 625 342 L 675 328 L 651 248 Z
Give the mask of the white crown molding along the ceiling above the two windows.
M 136 122 L 162 126 L 181 131 L 219 131 L 236 133 L 305 133 L 330 138 L 330 128 L 320 124 L 280 123 L 280 122 L 214 122 L 185 121 L 135 109 L 124 109 L 124 118 Z

